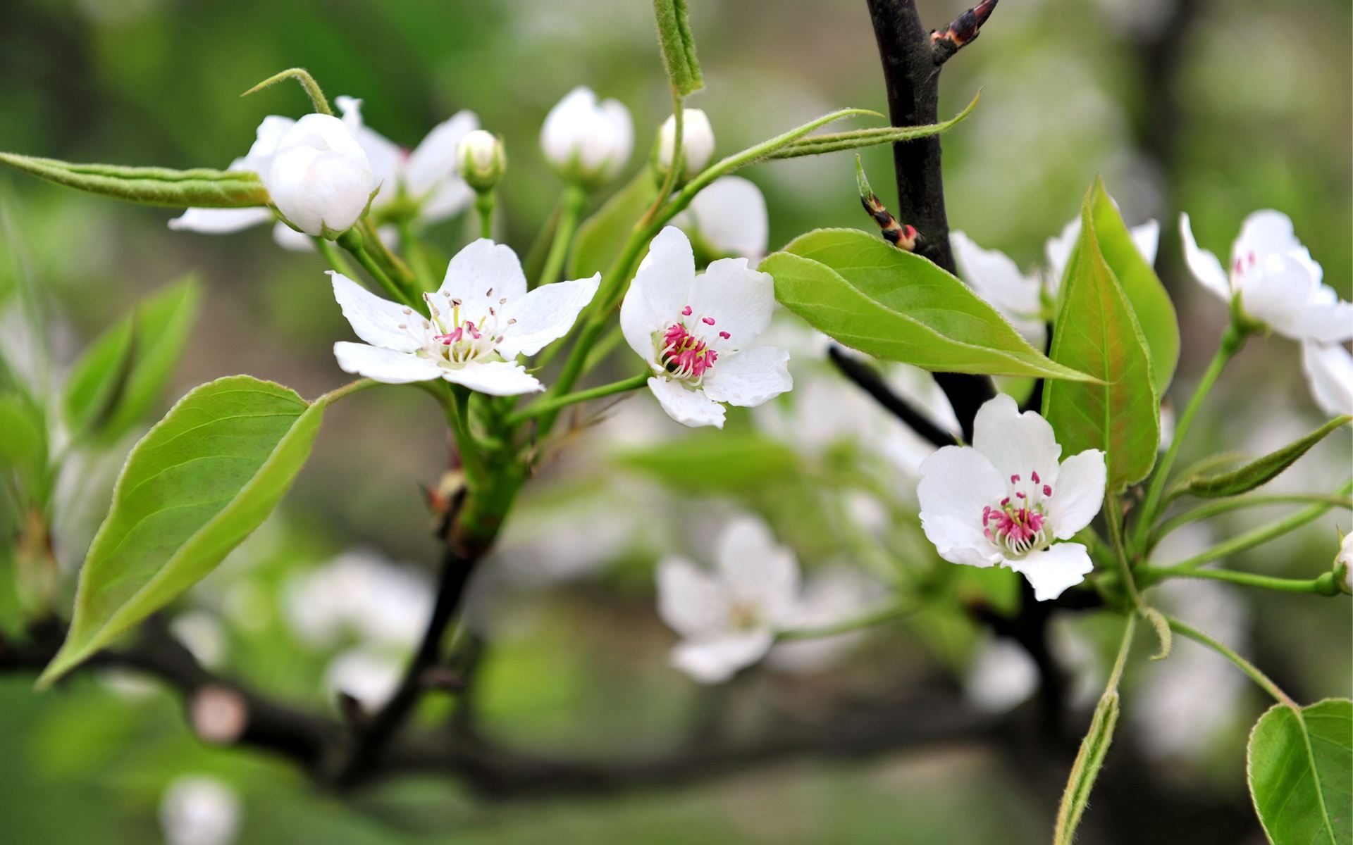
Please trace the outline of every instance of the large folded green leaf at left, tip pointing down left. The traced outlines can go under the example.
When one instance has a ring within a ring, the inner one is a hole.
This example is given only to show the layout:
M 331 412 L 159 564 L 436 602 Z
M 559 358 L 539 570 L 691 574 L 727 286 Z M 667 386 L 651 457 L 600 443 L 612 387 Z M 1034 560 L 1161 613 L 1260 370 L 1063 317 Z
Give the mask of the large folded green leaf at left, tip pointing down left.
M 272 512 L 310 454 L 325 403 L 249 376 L 204 384 L 133 448 L 80 571 L 51 684 L 195 584 Z

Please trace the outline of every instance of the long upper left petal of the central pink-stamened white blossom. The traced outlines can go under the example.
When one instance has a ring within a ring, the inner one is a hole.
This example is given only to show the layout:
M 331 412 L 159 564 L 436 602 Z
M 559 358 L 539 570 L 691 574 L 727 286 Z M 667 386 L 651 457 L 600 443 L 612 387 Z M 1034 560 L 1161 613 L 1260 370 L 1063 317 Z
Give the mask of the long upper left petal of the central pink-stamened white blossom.
M 620 327 L 629 347 L 653 366 L 658 350 L 653 333 L 663 331 L 681 319 L 681 310 L 690 297 L 695 280 L 695 256 L 685 233 L 668 226 L 658 233 L 648 256 L 639 265 L 620 304 Z

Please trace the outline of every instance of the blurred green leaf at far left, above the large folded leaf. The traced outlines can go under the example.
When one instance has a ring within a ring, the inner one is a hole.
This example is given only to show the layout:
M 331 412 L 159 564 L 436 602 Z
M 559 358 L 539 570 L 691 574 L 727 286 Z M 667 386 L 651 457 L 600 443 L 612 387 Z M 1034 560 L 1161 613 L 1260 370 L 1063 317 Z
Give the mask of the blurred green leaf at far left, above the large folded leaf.
M 158 291 L 85 350 L 66 385 L 66 422 L 103 442 L 142 422 L 164 392 L 202 301 L 192 277 Z

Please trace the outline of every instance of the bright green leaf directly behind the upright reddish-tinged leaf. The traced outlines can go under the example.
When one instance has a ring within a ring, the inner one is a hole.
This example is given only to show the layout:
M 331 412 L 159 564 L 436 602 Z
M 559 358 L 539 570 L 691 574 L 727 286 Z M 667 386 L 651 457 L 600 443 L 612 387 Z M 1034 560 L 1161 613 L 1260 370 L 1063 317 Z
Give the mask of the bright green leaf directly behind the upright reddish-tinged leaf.
M 1095 238 L 1104 261 L 1114 270 L 1114 277 L 1137 315 L 1137 324 L 1142 329 L 1146 352 L 1151 358 L 1155 395 L 1164 396 L 1180 360 L 1180 324 L 1174 316 L 1174 303 L 1155 270 L 1137 250 L 1132 234 L 1104 191 L 1104 181 L 1099 178 L 1091 192 L 1091 219 L 1095 222 Z

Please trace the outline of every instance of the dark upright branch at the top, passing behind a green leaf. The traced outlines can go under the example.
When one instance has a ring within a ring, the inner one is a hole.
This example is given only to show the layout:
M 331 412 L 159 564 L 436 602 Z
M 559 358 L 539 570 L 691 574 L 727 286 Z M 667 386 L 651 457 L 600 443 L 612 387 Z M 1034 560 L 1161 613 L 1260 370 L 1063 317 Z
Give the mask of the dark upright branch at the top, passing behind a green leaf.
M 888 112 L 893 126 L 938 122 L 940 68 L 935 62 L 931 37 L 916 14 L 915 0 L 867 3 L 884 65 Z M 893 172 L 897 181 L 894 214 L 920 233 L 916 253 L 957 274 L 948 243 L 939 135 L 894 143 Z M 963 439 L 971 442 L 977 408 L 996 395 L 992 380 L 958 373 L 936 373 L 935 380 L 954 407 L 954 415 L 963 427 Z

